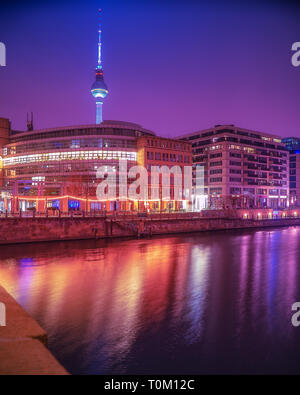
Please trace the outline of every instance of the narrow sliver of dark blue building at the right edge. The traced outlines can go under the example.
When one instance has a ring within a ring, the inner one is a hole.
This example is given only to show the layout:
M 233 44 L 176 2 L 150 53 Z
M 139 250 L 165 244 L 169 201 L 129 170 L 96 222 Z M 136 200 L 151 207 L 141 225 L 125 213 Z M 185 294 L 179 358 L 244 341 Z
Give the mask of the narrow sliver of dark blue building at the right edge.
M 300 206 L 300 138 L 286 137 L 282 139 L 290 151 L 290 206 Z

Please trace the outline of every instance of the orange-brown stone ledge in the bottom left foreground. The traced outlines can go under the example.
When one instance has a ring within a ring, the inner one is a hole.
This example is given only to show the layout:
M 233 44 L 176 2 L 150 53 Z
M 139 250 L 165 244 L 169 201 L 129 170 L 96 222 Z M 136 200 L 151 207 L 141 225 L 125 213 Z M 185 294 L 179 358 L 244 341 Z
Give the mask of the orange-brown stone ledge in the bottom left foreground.
M 47 348 L 46 332 L 1 286 L 0 303 L 0 375 L 67 375 Z

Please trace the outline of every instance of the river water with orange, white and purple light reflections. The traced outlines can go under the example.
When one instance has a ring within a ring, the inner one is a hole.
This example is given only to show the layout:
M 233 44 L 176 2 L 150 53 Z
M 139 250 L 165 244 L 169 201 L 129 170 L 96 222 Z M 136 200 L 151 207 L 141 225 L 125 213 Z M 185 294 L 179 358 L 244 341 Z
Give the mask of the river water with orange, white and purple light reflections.
M 299 228 L 0 247 L 72 373 L 299 373 Z

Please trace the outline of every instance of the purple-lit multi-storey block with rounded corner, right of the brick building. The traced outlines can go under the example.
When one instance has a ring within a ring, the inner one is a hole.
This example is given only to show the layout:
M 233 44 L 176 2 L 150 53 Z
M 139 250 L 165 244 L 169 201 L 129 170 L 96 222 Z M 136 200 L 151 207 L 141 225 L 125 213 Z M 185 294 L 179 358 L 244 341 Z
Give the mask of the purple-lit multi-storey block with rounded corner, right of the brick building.
M 285 208 L 289 204 L 289 152 L 272 134 L 216 125 L 181 136 L 192 143 L 196 166 L 204 166 L 209 207 Z

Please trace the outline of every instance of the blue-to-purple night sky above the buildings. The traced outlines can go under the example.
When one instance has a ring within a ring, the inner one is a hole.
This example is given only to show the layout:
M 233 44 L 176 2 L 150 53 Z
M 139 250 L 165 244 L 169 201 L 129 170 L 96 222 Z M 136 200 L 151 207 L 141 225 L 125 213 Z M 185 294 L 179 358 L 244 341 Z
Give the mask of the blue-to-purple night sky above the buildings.
M 24 129 L 95 122 L 103 9 L 104 119 L 163 136 L 233 123 L 300 137 L 300 8 L 292 2 L 33 1 L 0 13 L 0 116 Z

